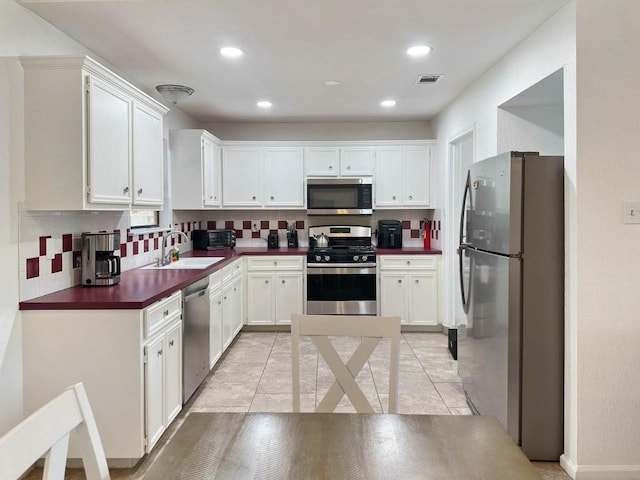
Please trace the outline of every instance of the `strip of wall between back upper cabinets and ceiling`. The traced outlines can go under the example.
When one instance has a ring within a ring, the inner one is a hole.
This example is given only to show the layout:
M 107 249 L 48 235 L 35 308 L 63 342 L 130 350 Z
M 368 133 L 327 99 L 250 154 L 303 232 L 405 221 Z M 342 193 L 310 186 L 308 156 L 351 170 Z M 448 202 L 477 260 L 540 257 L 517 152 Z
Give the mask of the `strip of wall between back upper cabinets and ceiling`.
M 209 123 L 220 140 L 430 140 L 430 122 Z

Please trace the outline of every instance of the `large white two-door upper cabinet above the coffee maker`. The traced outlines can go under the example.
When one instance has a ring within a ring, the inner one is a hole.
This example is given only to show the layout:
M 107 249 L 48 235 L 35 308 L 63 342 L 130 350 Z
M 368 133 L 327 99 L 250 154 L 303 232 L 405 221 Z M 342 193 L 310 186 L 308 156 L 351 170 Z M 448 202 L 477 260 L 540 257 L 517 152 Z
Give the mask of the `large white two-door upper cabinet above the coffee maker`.
M 88 57 L 20 61 L 27 209 L 161 205 L 168 109 Z

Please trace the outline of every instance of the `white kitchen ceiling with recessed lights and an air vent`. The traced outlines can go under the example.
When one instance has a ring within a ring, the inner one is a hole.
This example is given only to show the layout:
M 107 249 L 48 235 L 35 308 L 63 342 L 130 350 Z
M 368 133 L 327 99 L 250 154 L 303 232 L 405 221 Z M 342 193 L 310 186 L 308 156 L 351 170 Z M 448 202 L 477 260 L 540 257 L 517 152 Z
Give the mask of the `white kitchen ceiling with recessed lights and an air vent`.
M 158 99 L 158 84 L 194 88 L 179 108 L 207 123 L 429 120 L 568 0 L 20 3 Z M 433 51 L 410 58 L 415 44 Z M 222 58 L 230 45 L 244 55 Z

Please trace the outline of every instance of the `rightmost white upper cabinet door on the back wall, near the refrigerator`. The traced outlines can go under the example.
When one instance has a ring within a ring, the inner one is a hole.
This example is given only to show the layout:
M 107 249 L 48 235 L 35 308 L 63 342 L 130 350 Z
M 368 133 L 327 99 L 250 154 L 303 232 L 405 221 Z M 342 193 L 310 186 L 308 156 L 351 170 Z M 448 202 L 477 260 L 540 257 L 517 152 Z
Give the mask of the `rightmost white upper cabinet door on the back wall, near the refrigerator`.
M 430 162 L 429 147 L 404 147 L 403 205 L 429 206 Z

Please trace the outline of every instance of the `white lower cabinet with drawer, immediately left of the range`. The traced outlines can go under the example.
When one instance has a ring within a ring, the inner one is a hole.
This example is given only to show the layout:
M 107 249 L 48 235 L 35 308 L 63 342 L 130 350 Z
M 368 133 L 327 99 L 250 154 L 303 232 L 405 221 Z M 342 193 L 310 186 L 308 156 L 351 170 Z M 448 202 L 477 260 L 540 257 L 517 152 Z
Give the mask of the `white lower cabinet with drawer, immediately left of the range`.
M 247 323 L 284 325 L 303 313 L 304 261 L 298 256 L 247 260 Z

